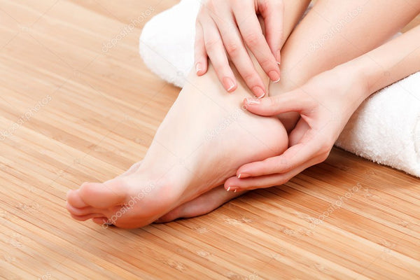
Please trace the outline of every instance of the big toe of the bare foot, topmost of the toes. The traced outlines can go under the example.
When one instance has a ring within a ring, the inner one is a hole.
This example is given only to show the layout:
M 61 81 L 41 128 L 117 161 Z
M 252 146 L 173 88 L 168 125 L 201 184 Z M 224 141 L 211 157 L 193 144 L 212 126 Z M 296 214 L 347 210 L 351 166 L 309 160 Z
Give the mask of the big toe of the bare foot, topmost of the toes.
M 122 179 L 113 179 L 106 183 L 85 183 L 80 187 L 79 193 L 83 202 L 99 209 L 124 204 L 128 195 Z

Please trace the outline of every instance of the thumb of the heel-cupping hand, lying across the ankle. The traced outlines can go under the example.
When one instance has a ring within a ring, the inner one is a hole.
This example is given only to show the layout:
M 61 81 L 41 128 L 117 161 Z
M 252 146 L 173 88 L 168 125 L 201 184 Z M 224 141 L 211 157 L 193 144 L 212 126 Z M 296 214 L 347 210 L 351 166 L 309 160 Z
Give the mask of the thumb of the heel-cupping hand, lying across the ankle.
M 246 110 L 260 116 L 275 116 L 287 112 L 309 112 L 315 103 L 314 99 L 297 89 L 264 99 L 246 98 L 244 106 Z

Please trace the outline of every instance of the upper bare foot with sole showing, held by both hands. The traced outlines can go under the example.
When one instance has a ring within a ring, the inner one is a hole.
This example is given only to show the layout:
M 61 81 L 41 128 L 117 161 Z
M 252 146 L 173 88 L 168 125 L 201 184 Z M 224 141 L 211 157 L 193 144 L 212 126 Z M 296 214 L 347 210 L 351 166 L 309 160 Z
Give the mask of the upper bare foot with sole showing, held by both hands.
M 181 91 L 134 172 L 105 183 L 84 183 L 69 192 L 67 209 L 73 218 L 139 228 L 220 186 L 241 165 L 287 148 L 287 134 L 278 119 L 241 108 L 244 97 L 251 97 L 243 85 L 228 94 L 211 69 L 189 80 L 194 84 Z

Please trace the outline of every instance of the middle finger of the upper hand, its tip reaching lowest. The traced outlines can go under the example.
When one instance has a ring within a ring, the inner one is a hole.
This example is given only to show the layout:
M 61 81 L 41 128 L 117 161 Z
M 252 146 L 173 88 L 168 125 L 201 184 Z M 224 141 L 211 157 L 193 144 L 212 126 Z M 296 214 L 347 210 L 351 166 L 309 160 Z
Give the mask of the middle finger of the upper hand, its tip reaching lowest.
M 266 94 L 265 85 L 258 72 L 255 70 L 251 57 L 249 57 L 248 51 L 241 40 L 241 34 L 237 29 L 236 25 L 226 24 L 226 19 L 216 22 L 218 27 L 221 29 L 221 36 L 225 50 L 228 52 L 230 59 L 235 64 L 239 75 L 244 79 L 244 82 L 251 89 L 255 97 L 262 98 Z M 232 23 L 234 19 L 232 18 Z

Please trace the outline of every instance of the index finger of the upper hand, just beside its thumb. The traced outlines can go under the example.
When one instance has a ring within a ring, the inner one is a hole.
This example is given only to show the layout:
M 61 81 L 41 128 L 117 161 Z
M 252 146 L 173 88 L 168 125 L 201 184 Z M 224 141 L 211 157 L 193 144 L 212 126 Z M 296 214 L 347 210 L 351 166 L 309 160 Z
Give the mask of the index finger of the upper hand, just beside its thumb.
M 255 10 L 249 13 L 249 10 L 255 9 L 251 7 L 242 7 L 246 5 L 242 1 L 237 1 L 241 6 L 234 8 L 235 18 L 241 36 L 244 39 L 246 46 L 251 50 L 258 64 L 267 73 L 267 76 L 275 83 L 280 80 L 280 69 L 276 62 L 276 58 L 272 54 L 265 36 L 262 34 L 260 22 L 258 21 Z M 246 2 L 248 3 L 248 2 Z M 252 4 L 252 3 L 251 3 Z

